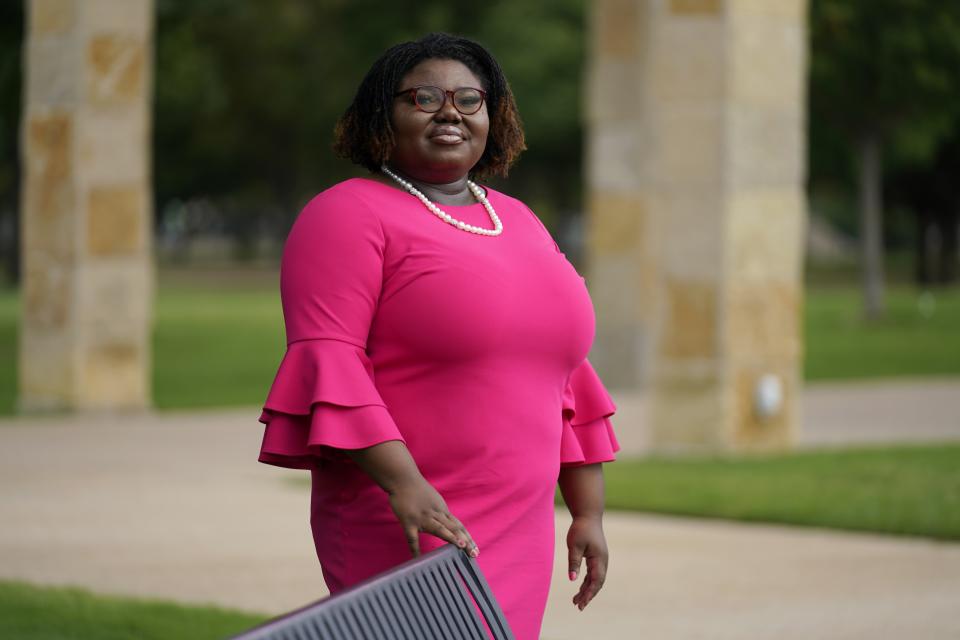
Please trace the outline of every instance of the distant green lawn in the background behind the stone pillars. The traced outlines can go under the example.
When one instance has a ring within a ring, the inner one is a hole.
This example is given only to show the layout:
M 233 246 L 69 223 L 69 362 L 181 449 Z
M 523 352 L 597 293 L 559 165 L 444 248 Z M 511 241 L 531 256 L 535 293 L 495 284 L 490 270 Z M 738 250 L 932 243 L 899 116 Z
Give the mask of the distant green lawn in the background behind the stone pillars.
M 857 289 L 807 292 L 807 380 L 960 375 L 960 289 L 889 291 L 887 315 L 861 317 Z M 19 299 L 0 289 L 0 415 L 14 411 Z M 284 350 L 272 272 L 163 274 L 153 338 L 154 402 L 162 409 L 256 405 Z

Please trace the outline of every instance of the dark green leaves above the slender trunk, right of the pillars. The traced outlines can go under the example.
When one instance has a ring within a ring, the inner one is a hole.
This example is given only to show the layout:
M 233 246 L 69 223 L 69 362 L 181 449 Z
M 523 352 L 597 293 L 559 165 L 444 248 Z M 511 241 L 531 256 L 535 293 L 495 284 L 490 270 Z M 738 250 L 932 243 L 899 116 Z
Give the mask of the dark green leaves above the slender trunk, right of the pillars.
M 812 0 L 810 176 L 853 189 L 852 145 L 878 132 L 888 172 L 926 166 L 960 121 L 960 4 Z

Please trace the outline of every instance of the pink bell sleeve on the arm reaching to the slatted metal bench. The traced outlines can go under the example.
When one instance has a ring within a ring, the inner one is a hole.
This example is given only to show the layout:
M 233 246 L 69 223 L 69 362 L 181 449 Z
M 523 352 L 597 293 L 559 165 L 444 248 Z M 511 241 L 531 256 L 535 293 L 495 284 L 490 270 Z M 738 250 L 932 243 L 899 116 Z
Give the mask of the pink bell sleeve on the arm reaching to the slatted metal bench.
M 366 353 L 384 246 L 373 211 L 336 189 L 294 222 L 280 265 L 287 349 L 260 415 L 260 462 L 310 469 L 334 450 L 403 440 Z

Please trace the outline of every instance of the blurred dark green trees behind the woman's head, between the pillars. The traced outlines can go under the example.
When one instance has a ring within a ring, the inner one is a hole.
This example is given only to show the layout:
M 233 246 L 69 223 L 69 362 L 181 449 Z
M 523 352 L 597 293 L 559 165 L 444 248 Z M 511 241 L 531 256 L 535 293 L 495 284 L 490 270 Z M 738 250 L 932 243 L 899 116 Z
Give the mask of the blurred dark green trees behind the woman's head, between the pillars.
M 158 0 L 157 211 L 210 198 L 241 244 L 358 171 L 333 157 L 333 126 L 389 46 L 429 31 L 473 37 L 511 80 L 529 151 L 509 190 L 547 220 L 579 209 L 582 0 Z

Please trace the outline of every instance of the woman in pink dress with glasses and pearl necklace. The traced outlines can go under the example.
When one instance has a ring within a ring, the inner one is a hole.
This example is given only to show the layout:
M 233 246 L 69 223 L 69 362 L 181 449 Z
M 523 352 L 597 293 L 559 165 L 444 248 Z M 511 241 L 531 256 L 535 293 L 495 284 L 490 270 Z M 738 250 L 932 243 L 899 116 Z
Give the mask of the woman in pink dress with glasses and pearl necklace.
M 585 282 L 522 202 L 472 183 L 524 149 L 480 45 L 388 50 L 336 132 L 371 175 L 307 204 L 287 239 L 287 353 L 260 461 L 309 469 L 335 593 L 451 542 L 477 557 L 517 638 L 537 638 L 554 487 L 571 514 L 581 610 L 603 585 L 603 472 L 614 404 L 586 355 Z M 480 551 L 482 550 L 482 553 Z

